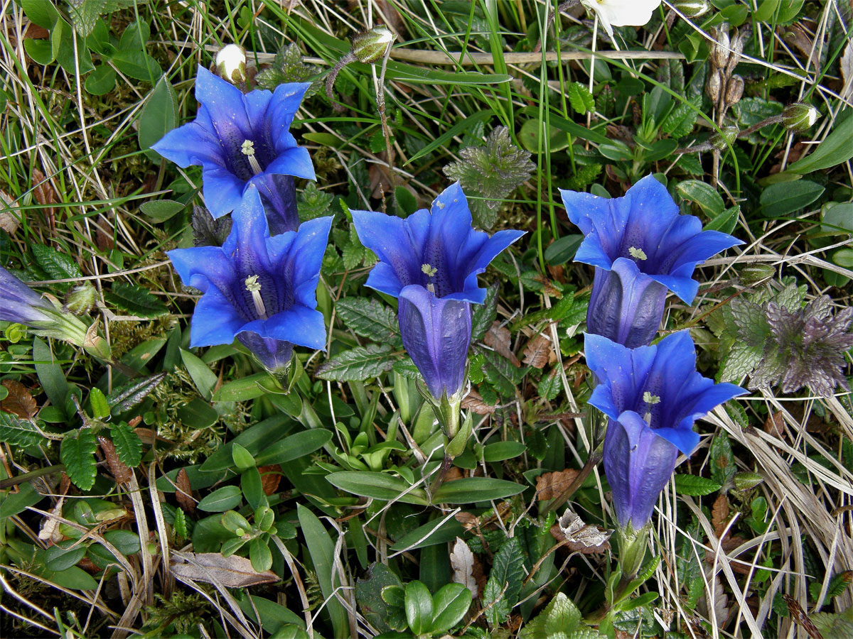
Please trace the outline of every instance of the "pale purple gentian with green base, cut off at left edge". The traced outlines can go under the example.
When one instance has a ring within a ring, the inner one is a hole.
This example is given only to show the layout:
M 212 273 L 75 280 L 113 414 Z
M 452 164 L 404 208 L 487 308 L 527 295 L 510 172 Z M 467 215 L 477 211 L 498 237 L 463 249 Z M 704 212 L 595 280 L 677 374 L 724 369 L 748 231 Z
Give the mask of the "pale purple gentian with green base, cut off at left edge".
M 109 346 L 97 331 L 63 310 L 55 297 L 40 296 L 3 267 L 0 267 L 0 321 L 26 325 L 38 336 L 73 343 L 102 360 L 110 357 Z

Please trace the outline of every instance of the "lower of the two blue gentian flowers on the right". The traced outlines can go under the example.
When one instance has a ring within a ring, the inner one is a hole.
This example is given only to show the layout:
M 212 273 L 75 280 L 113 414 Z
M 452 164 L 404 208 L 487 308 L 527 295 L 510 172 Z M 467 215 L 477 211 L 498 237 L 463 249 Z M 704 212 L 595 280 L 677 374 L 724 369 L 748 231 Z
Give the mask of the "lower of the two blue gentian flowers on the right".
M 619 525 L 644 527 L 676 467 L 681 451 L 699 443 L 693 422 L 746 390 L 715 384 L 696 371 L 696 349 L 688 331 L 654 346 L 625 348 L 606 337 L 585 334 L 587 366 L 599 379 L 589 404 L 609 419 L 604 470 Z

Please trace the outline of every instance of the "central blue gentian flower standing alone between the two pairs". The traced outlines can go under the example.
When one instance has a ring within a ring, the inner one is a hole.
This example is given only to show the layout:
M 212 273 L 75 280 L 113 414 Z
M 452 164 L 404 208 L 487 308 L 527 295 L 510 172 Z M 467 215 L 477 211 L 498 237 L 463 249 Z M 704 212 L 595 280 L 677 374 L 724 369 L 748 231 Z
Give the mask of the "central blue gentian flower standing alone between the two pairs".
M 399 298 L 403 346 L 432 397 L 455 397 L 465 381 L 471 304 L 485 300 L 477 275 L 524 235 L 475 231 L 459 183 L 406 219 L 353 210 L 358 238 L 380 262 L 366 285 Z M 461 399 L 461 398 L 460 398 Z

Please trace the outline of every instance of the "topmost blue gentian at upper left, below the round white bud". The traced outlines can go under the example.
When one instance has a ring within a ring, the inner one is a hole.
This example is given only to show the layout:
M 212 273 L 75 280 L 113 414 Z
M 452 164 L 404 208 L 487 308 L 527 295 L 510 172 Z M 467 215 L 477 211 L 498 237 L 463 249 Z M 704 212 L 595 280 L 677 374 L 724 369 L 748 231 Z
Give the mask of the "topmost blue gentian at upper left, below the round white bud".
M 275 92 L 243 94 L 199 67 L 193 122 L 167 133 L 154 151 L 178 166 L 203 168 L 205 204 L 214 217 L 235 210 L 249 185 L 268 204 L 274 235 L 299 226 L 293 176 L 314 180 L 308 149 L 297 147 L 288 128 L 310 83 L 287 83 Z

